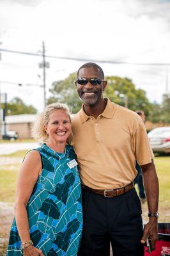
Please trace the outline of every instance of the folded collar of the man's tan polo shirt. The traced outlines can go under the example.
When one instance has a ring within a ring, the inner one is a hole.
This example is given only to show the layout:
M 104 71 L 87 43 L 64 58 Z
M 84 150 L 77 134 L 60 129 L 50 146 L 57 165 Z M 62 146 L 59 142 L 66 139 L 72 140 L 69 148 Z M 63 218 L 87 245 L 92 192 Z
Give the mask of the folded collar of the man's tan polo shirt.
M 105 118 L 112 118 L 112 116 L 114 115 L 114 111 L 115 111 L 114 103 L 112 103 L 111 100 L 107 99 L 107 104 L 105 106 L 104 112 L 101 115 L 104 116 Z M 80 118 L 82 123 L 86 122 L 89 119 L 89 116 L 86 115 L 86 113 L 84 112 L 83 104 L 80 111 Z

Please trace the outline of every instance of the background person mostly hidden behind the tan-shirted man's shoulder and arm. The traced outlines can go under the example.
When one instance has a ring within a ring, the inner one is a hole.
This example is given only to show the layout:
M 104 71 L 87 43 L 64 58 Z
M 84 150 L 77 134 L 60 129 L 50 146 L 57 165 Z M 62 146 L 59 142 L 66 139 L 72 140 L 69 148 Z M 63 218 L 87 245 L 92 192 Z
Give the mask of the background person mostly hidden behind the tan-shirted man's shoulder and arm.
M 135 111 L 135 113 L 137 113 L 137 115 L 139 115 L 141 117 L 141 119 L 143 120 L 143 123 L 145 123 L 146 116 L 144 115 L 144 111 L 137 110 L 137 111 Z M 139 166 L 138 163 L 136 163 L 135 168 L 137 170 L 137 176 L 135 177 L 134 182 L 138 186 L 139 198 L 141 200 L 141 203 L 144 204 L 146 202 L 146 195 L 145 195 L 144 186 L 143 186 L 143 173 L 141 172 L 141 166 Z

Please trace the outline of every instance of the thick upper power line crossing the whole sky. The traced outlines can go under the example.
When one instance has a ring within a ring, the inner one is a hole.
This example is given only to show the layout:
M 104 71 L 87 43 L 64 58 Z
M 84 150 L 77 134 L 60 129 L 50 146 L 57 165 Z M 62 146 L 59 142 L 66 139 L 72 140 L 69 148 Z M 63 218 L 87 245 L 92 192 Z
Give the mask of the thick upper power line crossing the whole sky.
M 0 49 L 0 51 L 42 57 L 41 53 L 13 51 L 10 49 Z M 54 58 L 54 59 L 59 59 L 59 60 L 73 60 L 73 61 L 91 61 L 91 62 L 110 63 L 110 64 L 118 64 L 118 65 L 121 64 L 121 65 L 141 65 L 141 66 L 170 66 L 170 63 L 133 63 L 133 62 L 127 62 L 127 61 L 91 60 L 91 59 L 84 59 L 84 58 L 53 56 L 53 55 L 46 55 L 46 54 L 45 54 L 45 58 Z

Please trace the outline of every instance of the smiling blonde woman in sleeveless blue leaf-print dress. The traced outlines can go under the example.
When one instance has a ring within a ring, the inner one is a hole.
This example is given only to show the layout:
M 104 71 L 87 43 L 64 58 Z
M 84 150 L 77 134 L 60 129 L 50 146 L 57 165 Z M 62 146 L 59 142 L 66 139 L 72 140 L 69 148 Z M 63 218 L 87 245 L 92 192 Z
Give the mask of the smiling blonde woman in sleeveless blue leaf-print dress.
M 54 103 L 33 127 L 42 147 L 26 155 L 19 172 L 15 219 L 7 256 L 77 255 L 82 231 L 81 184 L 69 109 Z

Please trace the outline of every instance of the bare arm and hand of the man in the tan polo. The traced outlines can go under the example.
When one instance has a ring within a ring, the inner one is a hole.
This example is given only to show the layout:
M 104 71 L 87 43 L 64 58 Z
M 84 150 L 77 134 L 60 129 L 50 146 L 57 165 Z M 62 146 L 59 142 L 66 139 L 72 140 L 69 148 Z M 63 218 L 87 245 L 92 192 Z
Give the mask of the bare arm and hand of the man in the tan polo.
M 158 177 L 155 171 L 153 160 L 150 164 L 141 166 L 143 172 L 143 182 L 148 202 L 148 212 L 158 211 Z M 144 226 L 141 243 L 146 242 L 148 237 L 151 250 L 155 250 L 155 242 L 158 240 L 157 218 L 150 217 L 149 222 Z

